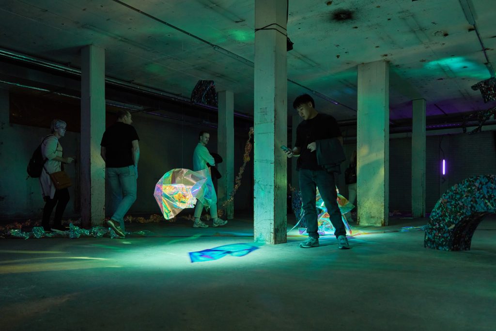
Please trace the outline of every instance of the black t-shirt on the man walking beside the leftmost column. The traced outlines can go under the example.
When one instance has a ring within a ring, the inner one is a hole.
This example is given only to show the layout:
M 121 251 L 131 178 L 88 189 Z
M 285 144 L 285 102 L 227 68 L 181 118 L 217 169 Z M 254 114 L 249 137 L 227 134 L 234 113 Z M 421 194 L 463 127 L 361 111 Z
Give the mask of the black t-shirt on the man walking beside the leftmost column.
M 116 122 L 105 130 L 100 145 L 107 148 L 107 168 L 122 168 L 134 164 L 131 143 L 133 140 L 139 140 L 139 137 L 129 124 Z

